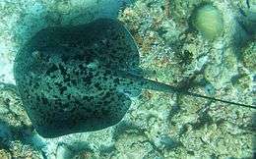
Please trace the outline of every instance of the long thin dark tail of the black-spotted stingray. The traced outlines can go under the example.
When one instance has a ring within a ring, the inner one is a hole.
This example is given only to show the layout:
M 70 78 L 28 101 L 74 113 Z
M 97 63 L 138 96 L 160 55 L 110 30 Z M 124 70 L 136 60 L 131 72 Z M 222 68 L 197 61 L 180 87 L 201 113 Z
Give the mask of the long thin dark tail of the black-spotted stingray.
M 163 91 L 163 92 L 168 92 L 168 93 L 181 93 L 184 95 L 189 95 L 189 96 L 193 96 L 193 97 L 198 97 L 198 98 L 204 98 L 204 99 L 210 99 L 213 101 L 219 101 L 219 102 L 223 102 L 226 104 L 231 104 L 231 105 L 236 105 L 236 106 L 240 106 L 240 107 L 246 107 L 246 108 L 252 108 L 252 109 L 256 109 L 256 105 L 249 105 L 249 104 L 243 104 L 243 103 L 237 103 L 237 102 L 232 102 L 232 101 L 227 101 L 224 99 L 219 99 L 219 98 L 215 98 L 215 97 L 211 97 L 211 96 L 206 96 L 206 95 L 202 95 L 202 94 L 198 94 L 198 93 L 194 93 L 194 92 L 190 92 L 187 90 L 183 90 L 180 89 L 178 87 L 169 85 L 169 84 L 165 84 L 162 82 L 158 82 L 152 79 L 144 79 L 141 76 L 132 74 L 132 73 L 128 73 L 125 71 L 120 71 L 118 73 L 118 75 L 128 78 L 128 79 L 132 79 L 134 80 L 138 86 L 146 88 L 146 89 L 152 89 L 152 90 L 157 90 L 157 91 Z

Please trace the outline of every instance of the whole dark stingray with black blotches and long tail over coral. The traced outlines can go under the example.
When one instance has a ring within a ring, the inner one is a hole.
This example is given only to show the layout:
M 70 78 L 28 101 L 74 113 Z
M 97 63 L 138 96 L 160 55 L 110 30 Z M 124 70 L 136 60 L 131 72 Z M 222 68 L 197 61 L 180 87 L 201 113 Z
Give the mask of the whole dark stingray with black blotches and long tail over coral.
M 245 105 L 145 79 L 139 52 L 120 22 L 41 29 L 19 51 L 14 75 L 35 130 L 44 137 L 94 132 L 116 125 L 141 89 L 177 92 Z

